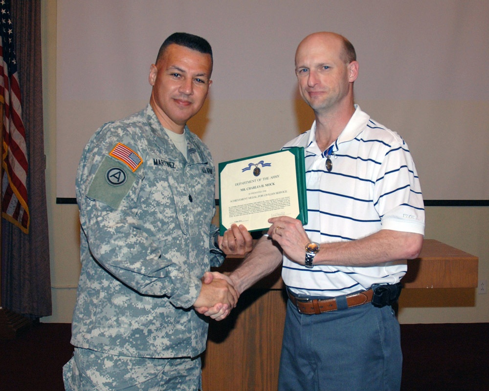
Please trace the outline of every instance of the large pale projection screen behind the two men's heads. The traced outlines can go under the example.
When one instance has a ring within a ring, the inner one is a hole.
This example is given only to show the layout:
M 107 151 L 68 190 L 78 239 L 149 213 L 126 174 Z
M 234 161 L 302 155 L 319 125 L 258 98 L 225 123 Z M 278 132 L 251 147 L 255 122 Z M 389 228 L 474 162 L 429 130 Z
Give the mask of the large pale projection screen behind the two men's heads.
M 149 67 L 175 31 L 214 51 L 189 126 L 220 161 L 308 130 L 297 44 L 335 31 L 356 47 L 356 103 L 409 145 L 426 200 L 488 200 L 489 1 L 58 0 L 57 197 L 75 196 L 85 143 L 149 101 Z M 216 195 L 218 193 L 216 192 Z

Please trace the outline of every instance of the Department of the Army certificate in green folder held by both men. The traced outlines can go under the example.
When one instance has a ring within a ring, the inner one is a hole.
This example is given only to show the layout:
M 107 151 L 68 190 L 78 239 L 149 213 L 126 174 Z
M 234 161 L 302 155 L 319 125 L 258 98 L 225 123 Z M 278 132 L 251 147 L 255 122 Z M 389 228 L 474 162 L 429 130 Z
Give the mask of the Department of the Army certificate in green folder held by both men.
M 219 163 L 220 234 L 233 223 L 265 230 L 276 216 L 307 224 L 304 165 L 302 147 Z

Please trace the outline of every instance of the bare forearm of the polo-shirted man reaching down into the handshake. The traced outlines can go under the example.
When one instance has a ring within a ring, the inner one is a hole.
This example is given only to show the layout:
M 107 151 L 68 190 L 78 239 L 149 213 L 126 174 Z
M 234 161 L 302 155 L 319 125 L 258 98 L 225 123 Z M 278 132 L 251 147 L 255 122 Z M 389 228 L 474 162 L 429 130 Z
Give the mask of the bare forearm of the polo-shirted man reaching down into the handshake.
M 264 236 L 258 240 L 253 251 L 229 277 L 241 294 L 255 282 L 273 272 L 281 262 L 280 247 L 272 239 Z

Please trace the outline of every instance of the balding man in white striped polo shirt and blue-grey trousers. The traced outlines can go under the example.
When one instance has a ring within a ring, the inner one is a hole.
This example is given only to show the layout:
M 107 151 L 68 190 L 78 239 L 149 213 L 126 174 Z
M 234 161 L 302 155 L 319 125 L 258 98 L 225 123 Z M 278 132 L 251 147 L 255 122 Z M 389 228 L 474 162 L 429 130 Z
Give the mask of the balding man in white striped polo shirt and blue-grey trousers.
M 230 279 L 241 293 L 283 261 L 289 302 L 279 390 L 399 390 L 400 329 L 391 305 L 403 260 L 422 247 L 416 168 L 403 139 L 354 104 L 358 62 L 348 40 L 309 35 L 295 72 L 315 121 L 284 148 L 305 149 L 308 224 L 270 218 L 267 236 Z

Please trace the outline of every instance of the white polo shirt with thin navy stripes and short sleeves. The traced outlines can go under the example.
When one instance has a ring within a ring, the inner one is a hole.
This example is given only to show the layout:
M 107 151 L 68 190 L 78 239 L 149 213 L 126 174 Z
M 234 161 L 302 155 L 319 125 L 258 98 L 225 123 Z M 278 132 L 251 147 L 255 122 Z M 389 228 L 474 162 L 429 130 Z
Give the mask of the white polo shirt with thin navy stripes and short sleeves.
M 328 152 L 315 142 L 315 123 L 284 146 L 304 147 L 309 238 L 318 243 L 366 237 L 381 229 L 424 235 L 424 204 L 416 168 L 404 140 L 370 119 L 358 106 Z M 329 150 L 329 149 L 328 149 Z M 296 294 L 339 296 L 397 283 L 405 263 L 347 267 L 317 265 L 307 269 L 284 256 L 282 277 Z

